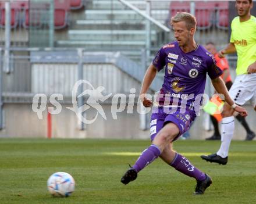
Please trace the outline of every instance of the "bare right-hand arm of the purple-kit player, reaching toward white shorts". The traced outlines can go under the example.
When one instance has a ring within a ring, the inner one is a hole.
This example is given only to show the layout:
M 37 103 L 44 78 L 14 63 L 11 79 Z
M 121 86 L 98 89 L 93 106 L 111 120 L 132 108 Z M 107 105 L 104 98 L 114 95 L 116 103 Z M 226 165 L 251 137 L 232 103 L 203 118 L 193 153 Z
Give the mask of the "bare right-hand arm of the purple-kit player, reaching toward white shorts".
M 243 107 L 236 105 L 232 98 L 229 96 L 229 92 L 227 91 L 226 85 L 221 77 L 216 77 L 212 79 L 212 85 L 214 85 L 215 90 L 219 94 L 223 94 L 225 97 L 225 101 L 234 109 L 236 112 L 239 112 L 242 116 L 247 116 L 247 111 Z

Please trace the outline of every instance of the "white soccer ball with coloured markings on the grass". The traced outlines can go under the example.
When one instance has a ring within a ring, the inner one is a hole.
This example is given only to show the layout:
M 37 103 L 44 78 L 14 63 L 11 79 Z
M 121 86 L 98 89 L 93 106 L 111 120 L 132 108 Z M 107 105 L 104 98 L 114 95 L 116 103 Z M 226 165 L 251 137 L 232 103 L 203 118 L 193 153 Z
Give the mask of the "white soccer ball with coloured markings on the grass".
M 74 191 L 74 178 L 66 172 L 56 172 L 47 181 L 47 188 L 51 195 L 67 197 Z

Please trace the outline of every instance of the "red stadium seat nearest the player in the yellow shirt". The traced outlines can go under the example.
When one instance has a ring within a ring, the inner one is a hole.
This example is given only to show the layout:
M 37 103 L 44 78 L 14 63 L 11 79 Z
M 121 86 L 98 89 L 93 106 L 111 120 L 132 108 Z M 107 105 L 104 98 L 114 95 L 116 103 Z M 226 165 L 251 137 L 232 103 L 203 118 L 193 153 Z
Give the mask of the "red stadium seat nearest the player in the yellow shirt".
M 229 27 L 229 2 L 218 2 L 216 6 L 216 26 L 226 30 Z

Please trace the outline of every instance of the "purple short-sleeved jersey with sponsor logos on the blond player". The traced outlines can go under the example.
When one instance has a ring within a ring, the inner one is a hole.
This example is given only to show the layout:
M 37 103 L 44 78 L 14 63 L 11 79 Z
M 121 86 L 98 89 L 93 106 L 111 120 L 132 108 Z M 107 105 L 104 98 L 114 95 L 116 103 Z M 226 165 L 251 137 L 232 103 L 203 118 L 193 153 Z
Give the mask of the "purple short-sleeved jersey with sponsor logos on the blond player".
M 162 46 L 152 64 L 158 71 L 165 67 L 165 76 L 159 98 L 159 105 L 168 98 L 170 103 L 186 103 L 186 109 L 194 110 L 200 105 L 204 94 L 206 74 L 211 79 L 223 73 L 215 64 L 214 56 L 203 46 L 198 45 L 194 51 L 183 52 L 177 42 Z M 162 103 L 162 104 L 161 104 Z

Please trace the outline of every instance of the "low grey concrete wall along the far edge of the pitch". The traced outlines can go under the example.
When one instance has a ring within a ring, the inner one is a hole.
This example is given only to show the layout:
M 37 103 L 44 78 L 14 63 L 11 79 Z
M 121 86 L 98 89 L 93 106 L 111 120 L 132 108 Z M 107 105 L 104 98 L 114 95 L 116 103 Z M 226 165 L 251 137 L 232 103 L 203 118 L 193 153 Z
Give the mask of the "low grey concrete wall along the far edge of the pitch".
M 102 105 L 106 114 L 104 120 L 98 115 L 97 120 L 86 126 L 86 130 L 79 130 L 79 123 L 74 112 L 66 109 L 72 105 L 63 105 L 62 112 L 52 115 L 52 137 L 53 138 L 123 138 L 123 139 L 149 139 L 150 132 L 139 129 L 139 114 L 134 107 L 133 114 L 126 111 L 117 114 L 117 120 L 112 119 L 111 105 Z M 247 121 L 252 130 L 256 132 L 256 112 L 250 105 L 246 105 L 249 112 Z M 3 106 L 5 127 L 0 131 L 0 137 L 26 137 L 46 138 L 47 137 L 47 112 L 43 112 L 43 119 L 39 120 L 29 104 L 5 104 Z M 95 117 L 95 110 L 88 109 L 87 119 Z M 191 127 L 191 139 L 204 139 L 212 135 L 212 131 L 204 130 L 204 119 L 206 114 L 202 113 L 197 117 Z M 236 129 L 234 139 L 244 139 L 246 131 L 235 121 Z

